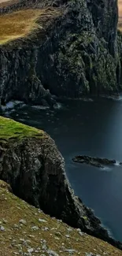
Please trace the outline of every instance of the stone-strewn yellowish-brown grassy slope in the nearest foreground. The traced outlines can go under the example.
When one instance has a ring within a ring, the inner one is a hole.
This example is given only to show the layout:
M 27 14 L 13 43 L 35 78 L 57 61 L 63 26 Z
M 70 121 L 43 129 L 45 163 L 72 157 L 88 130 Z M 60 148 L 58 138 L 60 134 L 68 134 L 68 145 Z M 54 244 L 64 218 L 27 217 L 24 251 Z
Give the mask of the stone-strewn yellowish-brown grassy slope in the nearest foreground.
M 21 219 L 26 221 L 26 224 L 20 224 Z M 39 219 L 46 222 L 41 222 Z M 81 236 L 77 229 L 69 228 L 67 224 L 28 205 L 11 194 L 7 185 L 2 184 L 2 181 L 0 182 L 0 226 L 5 228 L 4 231 L 0 231 L 1 256 L 21 255 L 20 251 L 24 255 L 28 252 L 28 248 L 33 248 L 31 254 L 33 256 L 49 255 L 47 253 L 49 249 L 62 256 L 70 255 L 66 251 L 67 249 L 76 250 L 72 255 L 81 256 L 86 256 L 88 253 L 101 256 L 122 255 L 122 251 L 117 250 L 109 243 L 84 233 Z M 34 231 L 32 229 L 34 226 L 39 229 Z M 43 249 L 43 243 L 46 243 L 46 250 Z M 42 252 L 40 253 L 38 250 L 42 250 Z

